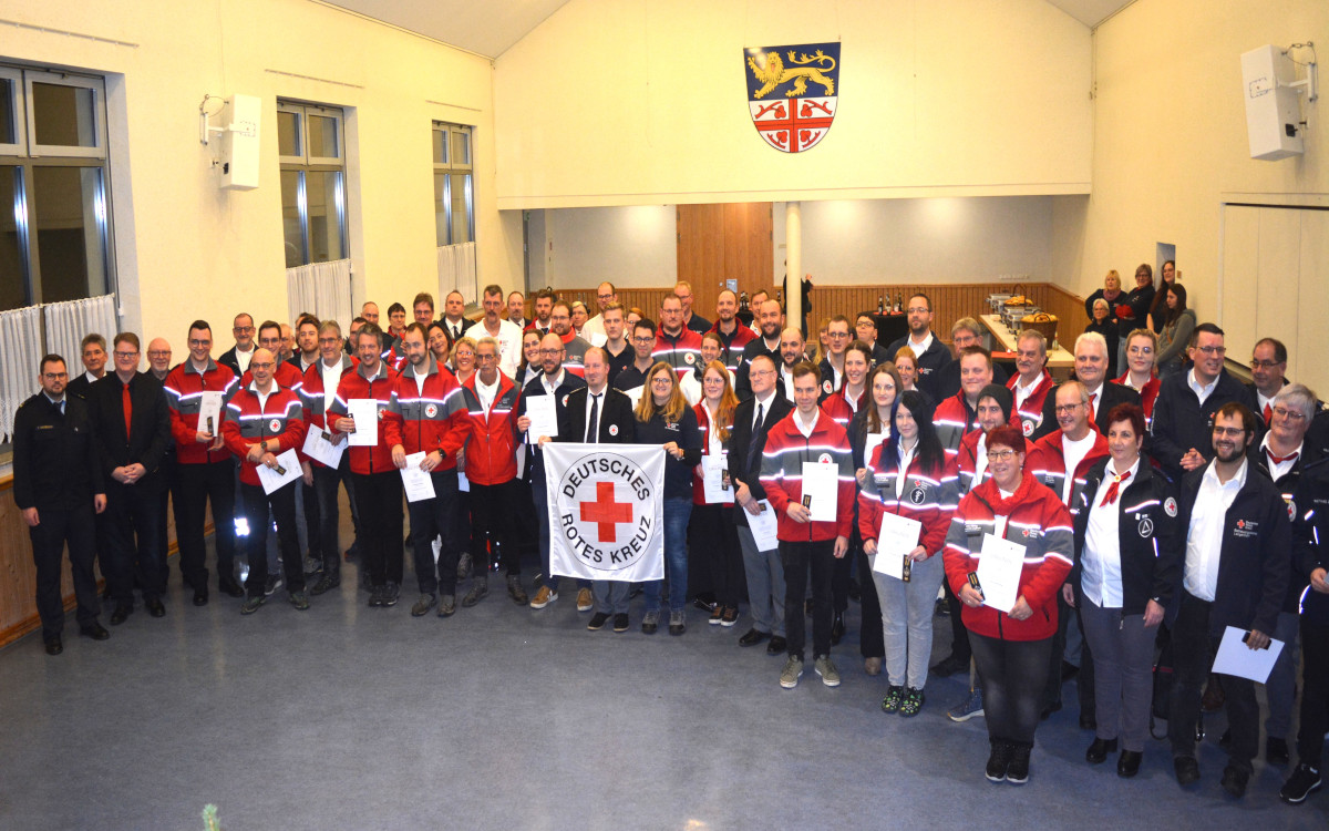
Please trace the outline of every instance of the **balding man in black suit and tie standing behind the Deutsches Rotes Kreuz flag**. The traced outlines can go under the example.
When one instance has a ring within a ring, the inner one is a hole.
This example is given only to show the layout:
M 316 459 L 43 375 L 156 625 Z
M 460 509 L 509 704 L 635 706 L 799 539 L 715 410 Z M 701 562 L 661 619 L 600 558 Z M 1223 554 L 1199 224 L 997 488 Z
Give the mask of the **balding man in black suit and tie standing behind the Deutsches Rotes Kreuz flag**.
M 609 352 L 598 346 L 586 350 L 586 386 L 567 394 L 567 404 L 558 415 L 558 441 L 586 444 L 631 444 L 637 437 L 637 416 L 626 392 L 609 387 Z M 591 594 L 595 614 L 586 625 L 591 632 L 605 628 L 614 618 L 614 632 L 627 632 L 627 592 L 631 584 L 621 580 L 595 580 Z

